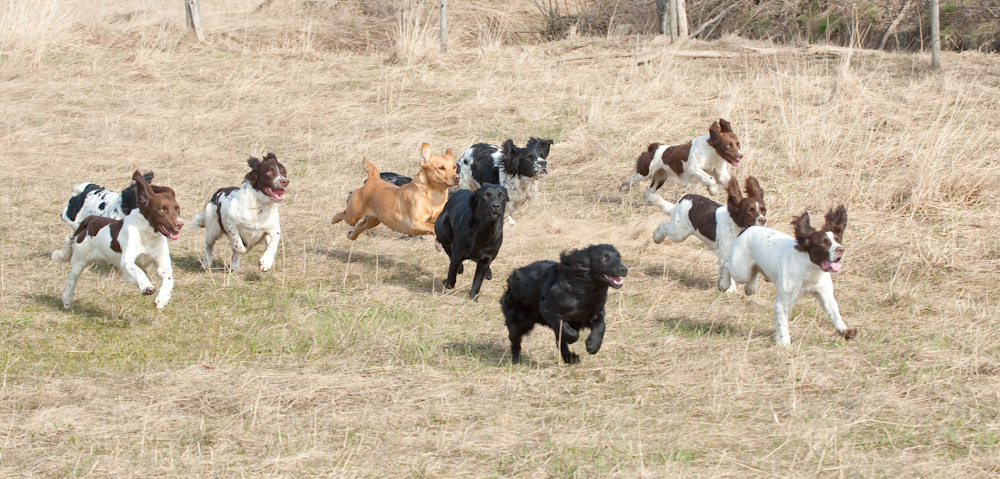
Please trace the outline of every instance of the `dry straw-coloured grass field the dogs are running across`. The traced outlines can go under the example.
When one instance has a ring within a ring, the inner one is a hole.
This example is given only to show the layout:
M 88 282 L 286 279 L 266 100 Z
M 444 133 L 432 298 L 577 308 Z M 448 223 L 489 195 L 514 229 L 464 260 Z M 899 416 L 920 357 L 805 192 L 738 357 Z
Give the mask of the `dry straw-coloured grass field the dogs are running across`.
M 995 56 L 516 42 L 517 1 L 453 5 L 442 55 L 431 9 L 258 3 L 203 2 L 199 43 L 180 2 L 0 0 L 0 476 L 1000 474 Z M 857 340 L 804 298 L 773 346 L 772 285 L 718 292 L 714 256 L 653 244 L 662 213 L 618 192 L 646 144 L 719 116 L 770 226 L 847 205 L 835 284 Z M 551 173 L 478 301 L 473 268 L 442 291 L 432 240 L 330 225 L 362 156 L 411 174 L 424 141 L 529 136 L 555 140 Z M 258 248 L 206 272 L 185 227 L 162 313 L 107 267 L 61 310 L 49 253 L 75 183 L 152 169 L 190 222 L 268 151 L 291 176 L 273 271 Z M 603 349 L 566 366 L 536 330 L 511 366 L 503 278 L 598 242 L 630 268 Z

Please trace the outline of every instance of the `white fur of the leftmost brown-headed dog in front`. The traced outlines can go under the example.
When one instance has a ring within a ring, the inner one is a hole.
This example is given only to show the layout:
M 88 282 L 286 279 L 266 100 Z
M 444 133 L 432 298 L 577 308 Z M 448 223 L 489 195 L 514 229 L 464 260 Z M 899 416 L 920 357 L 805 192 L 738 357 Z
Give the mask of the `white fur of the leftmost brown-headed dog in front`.
M 113 264 L 122 270 L 125 279 L 139 285 L 142 294 L 153 294 L 156 287 L 146 276 L 145 268 L 155 266 L 156 274 L 163 283 L 153 304 L 156 309 L 163 309 L 170 301 L 174 289 L 174 272 L 170 264 L 170 247 L 166 236 L 153 229 L 138 208 L 125 217 L 122 229 L 118 233 L 118 243 L 121 253 L 111 249 L 111 227 L 105 226 L 97 232 L 97 236 L 86 236 L 77 243 L 74 236 L 66 238 L 66 245 L 60 251 L 52 253 L 53 261 L 69 261 L 69 279 L 66 290 L 63 291 L 63 308 L 73 306 L 73 296 L 76 284 L 83 270 L 92 264 Z

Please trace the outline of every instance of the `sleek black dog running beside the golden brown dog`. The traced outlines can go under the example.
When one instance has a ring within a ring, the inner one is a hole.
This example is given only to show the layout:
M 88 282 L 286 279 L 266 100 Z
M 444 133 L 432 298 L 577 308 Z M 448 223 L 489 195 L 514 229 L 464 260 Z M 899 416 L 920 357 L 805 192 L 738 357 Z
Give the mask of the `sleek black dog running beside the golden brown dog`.
M 489 183 L 476 191 L 459 190 L 448 198 L 437 221 L 434 235 L 451 258 L 444 287 L 455 287 L 455 277 L 465 268 L 462 261 L 476 262 L 469 297 L 479 294 L 483 278 L 493 279 L 490 263 L 497 257 L 503 243 L 503 217 L 507 208 L 507 190 Z

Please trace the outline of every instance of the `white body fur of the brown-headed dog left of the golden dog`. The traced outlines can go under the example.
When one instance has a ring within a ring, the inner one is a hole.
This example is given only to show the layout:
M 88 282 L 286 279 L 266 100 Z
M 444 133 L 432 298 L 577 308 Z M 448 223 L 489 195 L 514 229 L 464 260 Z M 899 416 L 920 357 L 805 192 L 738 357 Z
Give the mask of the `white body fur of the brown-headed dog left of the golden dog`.
M 211 201 L 194 218 L 196 226 L 205 228 L 205 267 L 212 267 L 212 247 L 215 242 L 228 236 L 233 250 L 230 270 L 239 271 L 240 256 L 264 241 L 266 247 L 258 266 L 261 271 L 269 271 L 274 265 L 274 256 L 278 252 L 278 241 L 281 238 L 278 203 L 255 189 L 248 181 L 244 181 L 238 190 L 222 196 L 220 201 L 225 231 L 219 227 L 216 205 Z

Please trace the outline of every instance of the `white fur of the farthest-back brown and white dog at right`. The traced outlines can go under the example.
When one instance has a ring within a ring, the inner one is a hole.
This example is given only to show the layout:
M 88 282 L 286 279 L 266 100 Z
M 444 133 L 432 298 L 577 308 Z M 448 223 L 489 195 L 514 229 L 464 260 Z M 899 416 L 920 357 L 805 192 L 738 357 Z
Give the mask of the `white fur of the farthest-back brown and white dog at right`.
M 675 174 L 674 170 L 663 162 L 663 153 L 667 148 L 676 145 L 660 145 L 653 153 L 652 161 L 649 162 L 649 175 L 643 176 L 636 171 L 622 184 L 621 190 L 625 191 L 646 178 L 653 178 L 653 184 L 646 190 L 646 201 L 659 206 L 667 214 L 673 209 L 673 204 L 656 194 L 657 177 L 666 177 L 682 184 L 702 184 L 708 187 L 709 194 L 713 196 L 718 194 L 719 189 L 725 189 L 729 183 L 729 169 L 726 166 L 729 162 L 708 144 L 709 137 L 710 135 L 704 135 L 691 140 L 691 150 L 688 152 L 687 161 L 682 163 L 684 170 L 680 175 Z

